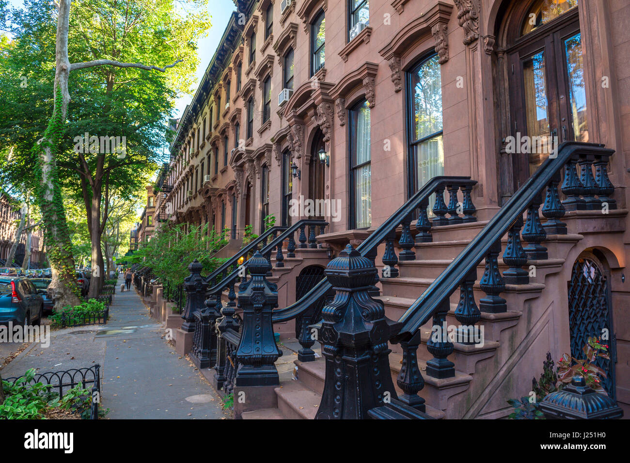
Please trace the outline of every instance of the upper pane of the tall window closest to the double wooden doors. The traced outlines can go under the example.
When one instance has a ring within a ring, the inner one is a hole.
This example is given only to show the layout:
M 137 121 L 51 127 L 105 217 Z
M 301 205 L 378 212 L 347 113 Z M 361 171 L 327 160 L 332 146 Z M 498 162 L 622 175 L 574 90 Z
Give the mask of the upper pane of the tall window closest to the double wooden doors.
M 413 139 L 442 130 L 442 76 L 435 55 L 411 74 L 413 88 Z

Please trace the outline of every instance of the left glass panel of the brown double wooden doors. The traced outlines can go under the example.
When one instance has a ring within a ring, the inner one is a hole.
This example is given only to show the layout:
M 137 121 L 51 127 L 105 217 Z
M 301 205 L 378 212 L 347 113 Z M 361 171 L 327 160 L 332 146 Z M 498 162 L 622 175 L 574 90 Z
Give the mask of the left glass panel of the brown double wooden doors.
M 528 150 L 529 173 L 531 175 L 547 158 L 547 153 L 551 152 L 552 140 L 549 130 L 549 100 L 547 99 L 547 72 L 544 52 L 524 61 L 523 74 L 527 135 L 531 137 L 530 143 L 532 144 L 531 149 Z

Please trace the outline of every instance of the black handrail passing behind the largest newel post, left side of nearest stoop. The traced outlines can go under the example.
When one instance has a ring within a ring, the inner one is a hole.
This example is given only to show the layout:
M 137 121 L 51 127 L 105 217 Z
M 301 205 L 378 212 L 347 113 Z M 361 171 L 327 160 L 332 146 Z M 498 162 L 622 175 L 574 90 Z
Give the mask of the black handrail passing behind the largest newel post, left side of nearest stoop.
M 399 209 L 392 214 L 389 219 L 385 220 L 372 234 L 370 234 L 363 243 L 361 243 L 357 251 L 362 256 L 369 256 L 375 253 L 376 248 L 386 238 L 387 234 L 396 230 L 396 227 L 404 220 L 405 217 L 412 214 L 421 203 L 427 202 L 428 198 L 437 190 L 438 187 L 443 185 L 476 185 L 476 180 L 471 180 L 469 176 L 436 176 L 429 180 L 425 185 L 416 191 L 416 193 L 409 198 Z M 327 278 L 323 278 L 317 285 L 315 285 L 307 294 L 301 299 L 291 304 L 284 309 L 273 311 L 273 323 L 280 323 L 289 321 L 297 316 L 300 316 L 302 312 L 307 311 L 312 304 L 316 304 L 326 293 L 331 289 L 331 284 L 328 283 Z

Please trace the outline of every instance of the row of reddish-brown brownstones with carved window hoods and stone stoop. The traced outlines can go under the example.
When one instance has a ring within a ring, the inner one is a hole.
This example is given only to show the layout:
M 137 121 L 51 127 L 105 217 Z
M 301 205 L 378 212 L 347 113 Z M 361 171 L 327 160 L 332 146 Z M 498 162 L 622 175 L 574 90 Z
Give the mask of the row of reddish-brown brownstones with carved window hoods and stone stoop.
M 604 144 L 615 151 L 607 174 L 616 209 L 568 212 L 568 234 L 547 234 L 549 260 L 527 290 L 505 296 L 507 312 L 483 316 L 495 336 L 491 347 L 482 353 L 456 345 L 461 370 L 449 380 L 425 375 L 423 392 L 441 416 L 505 416 L 505 400 L 529 391 L 545 353 L 570 352 L 588 324 L 575 324 L 584 315 L 571 300 L 572 282 L 588 273 L 579 267 L 586 262 L 599 275 L 599 283 L 591 278 L 586 285 L 603 301 L 595 319 L 613 333 L 610 391 L 627 414 L 630 4 L 235 4 L 171 144 L 163 171 L 168 191 L 157 205 L 165 219 L 227 227 L 240 237 L 247 225 L 260 232 L 268 214 L 283 226 L 320 217 L 329 222 L 318 236 L 321 250 L 335 254 L 361 243 L 431 178 L 469 176 L 476 181 L 468 192 L 476 222 L 434 227 L 432 243 L 415 244 L 417 257 L 404 265 L 404 278 L 403 270 L 399 278 L 381 278 L 386 312 L 398 319 L 558 143 Z M 599 166 L 601 174 L 606 165 Z M 338 203 L 324 212 L 293 207 L 304 199 Z M 478 270 L 483 273 L 483 264 Z M 295 272 L 278 275 L 288 282 L 280 307 L 295 301 Z M 457 304 L 459 295 L 451 300 Z M 421 345 L 418 362 L 430 358 Z M 392 372 L 400 369 L 394 363 Z M 283 400 L 289 401 L 278 397 Z

